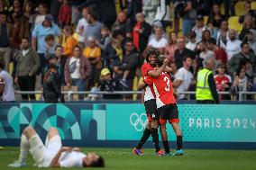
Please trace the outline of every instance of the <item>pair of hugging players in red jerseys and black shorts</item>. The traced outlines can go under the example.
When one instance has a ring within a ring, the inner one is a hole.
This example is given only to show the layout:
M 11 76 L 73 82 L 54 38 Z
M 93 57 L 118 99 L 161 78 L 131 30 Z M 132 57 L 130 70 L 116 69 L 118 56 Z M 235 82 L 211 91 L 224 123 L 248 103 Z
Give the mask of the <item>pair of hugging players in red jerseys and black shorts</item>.
M 182 134 L 178 127 L 178 107 L 172 91 L 172 84 L 167 67 L 169 60 L 160 56 L 157 49 L 149 49 L 146 53 L 147 63 L 142 66 L 142 76 L 146 83 L 144 105 L 148 115 L 148 126 L 144 130 L 138 146 L 133 148 L 133 154 L 142 155 L 142 145 L 152 136 L 157 156 L 181 156 Z M 172 154 L 169 151 L 169 141 L 166 123 L 169 121 L 177 136 L 177 150 Z M 159 147 L 158 126 L 165 153 Z

